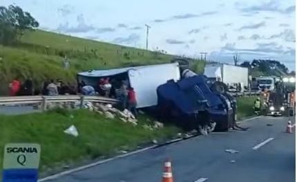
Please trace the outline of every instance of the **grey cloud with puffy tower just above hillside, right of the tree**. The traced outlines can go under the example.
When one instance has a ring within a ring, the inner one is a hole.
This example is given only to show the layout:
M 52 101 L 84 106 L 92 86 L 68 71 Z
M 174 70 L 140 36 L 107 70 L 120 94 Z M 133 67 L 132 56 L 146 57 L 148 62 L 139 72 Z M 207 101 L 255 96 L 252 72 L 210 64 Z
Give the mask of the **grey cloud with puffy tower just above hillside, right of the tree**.
M 87 25 L 84 21 L 84 15 L 79 14 L 77 16 L 77 26 L 69 26 L 68 21 L 64 24 L 60 24 L 57 28 L 58 31 L 67 32 L 67 33 L 79 33 L 79 32 L 90 32 L 95 30 L 95 28 L 91 25 Z

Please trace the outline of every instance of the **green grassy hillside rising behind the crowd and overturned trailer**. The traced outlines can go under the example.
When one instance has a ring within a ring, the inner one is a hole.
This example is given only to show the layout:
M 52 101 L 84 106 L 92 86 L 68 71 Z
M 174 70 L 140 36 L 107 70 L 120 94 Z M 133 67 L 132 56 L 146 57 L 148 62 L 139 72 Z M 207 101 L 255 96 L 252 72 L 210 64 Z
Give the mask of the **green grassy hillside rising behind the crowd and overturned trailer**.
M 63 68 L 65 55 L 70 70 Z M 11 47 L 0 45 L 0 94 L 7 93 L 7 85 L 14 77 L 32 77 L 38 85 L 44 79 L 74 82 L 75 74 L 83 70 L 166 63 L 172 58 L 169 54 L 42 30 L 26 32 L 19 43 Z

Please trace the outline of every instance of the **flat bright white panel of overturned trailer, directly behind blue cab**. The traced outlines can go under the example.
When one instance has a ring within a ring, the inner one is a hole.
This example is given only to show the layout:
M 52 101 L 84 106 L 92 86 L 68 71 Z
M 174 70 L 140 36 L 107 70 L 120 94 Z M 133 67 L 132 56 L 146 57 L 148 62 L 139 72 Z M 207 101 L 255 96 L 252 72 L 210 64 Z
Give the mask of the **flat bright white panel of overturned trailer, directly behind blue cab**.
M 146 66 L 128 71 L 131 87 L 134 88 L 137 108 L 157 105 L 157 87 L 174 79 L 180 80 L 178 63 Z

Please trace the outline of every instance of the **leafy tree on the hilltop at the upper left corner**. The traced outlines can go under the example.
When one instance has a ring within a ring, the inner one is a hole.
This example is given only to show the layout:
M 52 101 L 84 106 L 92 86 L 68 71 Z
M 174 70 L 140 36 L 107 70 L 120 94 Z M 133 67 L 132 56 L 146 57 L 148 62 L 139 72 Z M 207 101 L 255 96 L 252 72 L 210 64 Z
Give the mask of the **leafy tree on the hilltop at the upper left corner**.
M 39 23 L 19 6 L 0 6 L 0 43 L 11 44 L 26 30 L 34 30 Z

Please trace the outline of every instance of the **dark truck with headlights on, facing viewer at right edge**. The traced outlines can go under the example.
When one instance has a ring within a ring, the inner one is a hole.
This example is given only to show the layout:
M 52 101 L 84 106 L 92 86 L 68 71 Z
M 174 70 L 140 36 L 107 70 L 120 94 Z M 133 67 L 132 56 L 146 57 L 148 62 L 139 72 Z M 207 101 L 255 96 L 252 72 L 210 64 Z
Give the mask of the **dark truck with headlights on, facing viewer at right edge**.
M 265 92 L 266 114 L 270 116 L 294 116 L 295 114 L 295 77 L 282 77 L 276 82 L 275 90 Z

